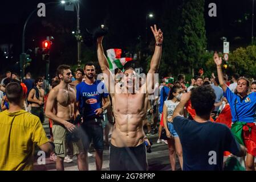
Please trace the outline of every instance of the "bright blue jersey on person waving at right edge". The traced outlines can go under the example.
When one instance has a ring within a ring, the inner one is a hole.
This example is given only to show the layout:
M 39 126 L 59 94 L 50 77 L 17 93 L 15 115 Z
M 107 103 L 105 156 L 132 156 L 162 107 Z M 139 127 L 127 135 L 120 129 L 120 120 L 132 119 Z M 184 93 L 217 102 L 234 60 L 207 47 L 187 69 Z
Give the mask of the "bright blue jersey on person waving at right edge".
M 234 94 L 229 87 L 227 87 L 225 92 L 225 97 L 229 102 L 232 122 L 241 121 L 246 123 L 256 122 L 256 92 L 250 93 L 249 95 L 241 98 L 237 94 Z M 237 115 L 235 114 L 235 100 L 237 102 Z

